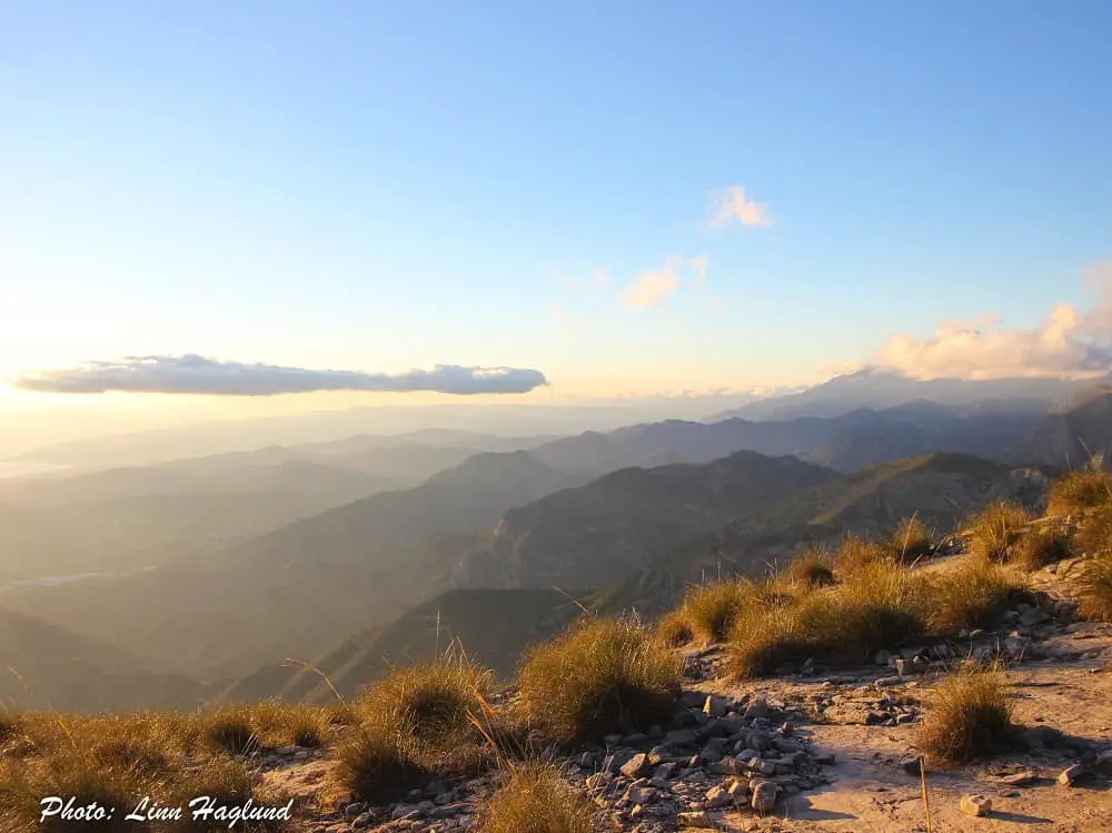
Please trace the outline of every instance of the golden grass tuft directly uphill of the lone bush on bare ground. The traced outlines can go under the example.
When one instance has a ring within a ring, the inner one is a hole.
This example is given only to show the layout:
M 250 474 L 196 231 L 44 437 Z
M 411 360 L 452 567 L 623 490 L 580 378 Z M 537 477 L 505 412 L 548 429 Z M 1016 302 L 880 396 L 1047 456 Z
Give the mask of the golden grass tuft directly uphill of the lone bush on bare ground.
M 964 561 L 930 578 L 929 621 L 940 635 L 989 624 L 1012 593 L 1023 589 L 1015 573 L 984 561 Z

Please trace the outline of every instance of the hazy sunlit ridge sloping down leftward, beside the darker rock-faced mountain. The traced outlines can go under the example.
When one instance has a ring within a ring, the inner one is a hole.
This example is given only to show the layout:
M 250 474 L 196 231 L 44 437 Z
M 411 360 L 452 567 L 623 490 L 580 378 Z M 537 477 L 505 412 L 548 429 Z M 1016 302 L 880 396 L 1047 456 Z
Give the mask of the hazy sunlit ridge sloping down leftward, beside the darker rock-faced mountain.
M 444 539 L 481 532 L 569 482 L 524 452 L 478 455 L 416 488 L 330 509 L 211 557 L 29 587 L 7 603 L 138 655 L 170 657 L 192 675 L 238 677 L 391 621 L 444 589 L 436 572 L 458 552 Z

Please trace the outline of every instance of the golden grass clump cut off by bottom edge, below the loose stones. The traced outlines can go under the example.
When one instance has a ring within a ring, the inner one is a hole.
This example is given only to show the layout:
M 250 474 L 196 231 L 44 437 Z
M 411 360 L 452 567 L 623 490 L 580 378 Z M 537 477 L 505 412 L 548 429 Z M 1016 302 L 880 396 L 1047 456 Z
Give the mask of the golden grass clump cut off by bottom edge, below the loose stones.
M 556 767 L 514 768 L 480 810 L 479 833 L 590 833 L 594 807 Z

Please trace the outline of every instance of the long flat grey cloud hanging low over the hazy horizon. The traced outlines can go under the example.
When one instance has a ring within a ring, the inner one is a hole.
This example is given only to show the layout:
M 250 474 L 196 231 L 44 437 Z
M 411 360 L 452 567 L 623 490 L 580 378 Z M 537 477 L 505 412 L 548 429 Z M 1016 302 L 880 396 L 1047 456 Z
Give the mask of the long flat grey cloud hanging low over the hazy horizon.
M 431 370 L 375 374 L 360 370 L 311 370 L 277 365 L 245 365 L 203 356 L 130 356 L 56 370 L 31 370 L 13 379 L 16 387 L 50 394 L 211 394 L 274 396 L 315 390 L 418 390 L 467 396 L 525 394 L 547 385 L 539 370 L 514 367 L 437 365 Z

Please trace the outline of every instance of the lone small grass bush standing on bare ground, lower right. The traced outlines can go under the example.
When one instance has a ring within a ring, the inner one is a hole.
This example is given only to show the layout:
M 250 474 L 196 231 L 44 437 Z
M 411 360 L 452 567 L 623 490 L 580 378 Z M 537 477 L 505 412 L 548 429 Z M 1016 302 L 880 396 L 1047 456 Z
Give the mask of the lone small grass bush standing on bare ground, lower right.
M 1012 740 L 1006 678 L 996 667 L 961 670 L 931 693 L 919 747 L 932 760 L 961 764 L 999 752 Z

